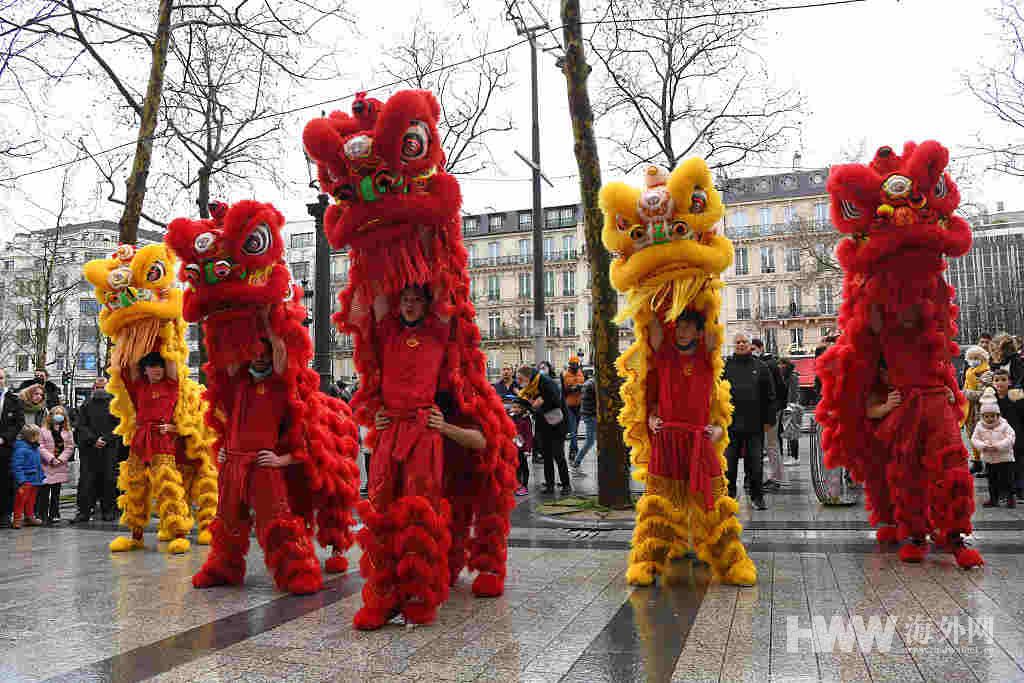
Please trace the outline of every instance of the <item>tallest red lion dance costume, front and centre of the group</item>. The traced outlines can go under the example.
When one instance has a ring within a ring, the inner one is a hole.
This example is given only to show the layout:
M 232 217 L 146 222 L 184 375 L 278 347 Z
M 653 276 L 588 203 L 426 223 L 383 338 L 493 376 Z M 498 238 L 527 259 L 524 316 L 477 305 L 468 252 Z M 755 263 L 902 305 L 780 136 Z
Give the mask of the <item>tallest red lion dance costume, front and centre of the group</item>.
M 352 116 L 334 112 L 303 132 L 321 187 L 336 200 L 324 220 L 328 238 L 349 250 L 350 284 L 335 322 L 353 339 L 360 388 L 352 408 L 376 446 L 370 500 L 358 507 L 367 578 L 365 606 L 354 618 L 359 629 L 380 628 L 399 611 L 408 623 L 430 623 L 467 563 L 479 571 L 475 595 L 504 591 L 515 429 L 487 384 L 479 350 L 461 197 L 444 172 L 439 113 L 423 90 L 398 92 L 386 103 L 359 95 Z M 407 338 L 393 316 L 377 321 L 373 310 L 383 299 L 394 311 L 410 286 L 425 288 L 431 299 L 419 338 Z M 401 393 L 389 388 L 396 383 Z M 422 399 L 429 403 L 435 392 L 449 395 L 458 419 L 486 441 L 471 452 L 445 438 L 442 474 L 429 464 L 436 459 L 430 453 L 438 447 L 436 432 L 423 426 L 430 407 Z M 382 408 L 399 414 L 389 429 L 398 429 L 397 436 L 374 428 Z M 419 440 L 410 446 L 401 433 Z

